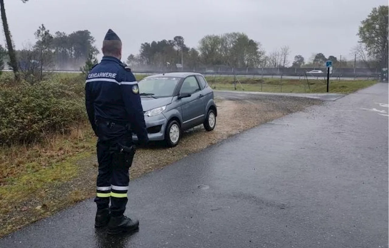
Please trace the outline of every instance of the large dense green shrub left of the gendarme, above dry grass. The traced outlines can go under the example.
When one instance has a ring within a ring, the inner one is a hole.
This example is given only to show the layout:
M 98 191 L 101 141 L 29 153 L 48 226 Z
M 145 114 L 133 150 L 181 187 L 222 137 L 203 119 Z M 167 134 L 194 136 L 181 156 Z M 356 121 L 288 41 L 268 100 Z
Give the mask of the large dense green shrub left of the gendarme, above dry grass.
M 0 84 L 0 144 L 34 143 L 86 121 L 81 77 Z

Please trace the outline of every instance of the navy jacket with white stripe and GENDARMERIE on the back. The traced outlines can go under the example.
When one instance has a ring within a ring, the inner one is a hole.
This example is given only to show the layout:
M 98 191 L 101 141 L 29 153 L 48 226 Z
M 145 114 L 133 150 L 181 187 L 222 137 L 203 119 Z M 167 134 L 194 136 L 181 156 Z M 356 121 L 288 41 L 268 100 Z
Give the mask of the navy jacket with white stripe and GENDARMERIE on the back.
M 86 76 L 85 105 L 95 134 L 96 119 L 130 124 L 141 143 L 147 143 L 144 112 L 140 101 L 138 82 L 119 59 L 104 56 Z M 122 129 L 117 138 L 132 135 Z

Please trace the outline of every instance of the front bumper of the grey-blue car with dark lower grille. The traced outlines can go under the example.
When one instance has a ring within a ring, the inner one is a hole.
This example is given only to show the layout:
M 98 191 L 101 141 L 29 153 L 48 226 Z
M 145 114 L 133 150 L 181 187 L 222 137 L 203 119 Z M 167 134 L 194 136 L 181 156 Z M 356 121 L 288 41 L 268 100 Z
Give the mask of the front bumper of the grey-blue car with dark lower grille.
M 163 114 L 148 117 L 145 115 L 145 122 L 149 140 L 157 141 L 165 139 L 165 128 L 167 119 Z M 132 139 L 138 141 L 138 136 L 133 132 Z

